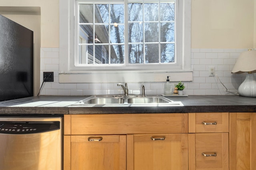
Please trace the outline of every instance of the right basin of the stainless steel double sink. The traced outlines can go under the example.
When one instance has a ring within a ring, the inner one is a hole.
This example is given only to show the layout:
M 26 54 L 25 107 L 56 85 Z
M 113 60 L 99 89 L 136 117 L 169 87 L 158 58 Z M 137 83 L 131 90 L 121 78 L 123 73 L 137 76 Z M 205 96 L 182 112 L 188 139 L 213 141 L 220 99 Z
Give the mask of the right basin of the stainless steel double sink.
M 160 104 L 160 103 L 169 103 L 170 100 L 167 100 L 162 97 L 137 97 L 137 98 L 128 98 L 128 104 Z

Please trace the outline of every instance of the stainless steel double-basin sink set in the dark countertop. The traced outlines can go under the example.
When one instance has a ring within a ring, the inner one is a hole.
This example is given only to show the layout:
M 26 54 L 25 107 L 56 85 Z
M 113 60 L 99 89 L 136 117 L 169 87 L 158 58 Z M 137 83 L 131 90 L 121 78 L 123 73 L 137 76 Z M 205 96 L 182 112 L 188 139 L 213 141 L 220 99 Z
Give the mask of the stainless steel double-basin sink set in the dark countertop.
M 72 106 L 183 106 L 163 96 L 90 96 Z

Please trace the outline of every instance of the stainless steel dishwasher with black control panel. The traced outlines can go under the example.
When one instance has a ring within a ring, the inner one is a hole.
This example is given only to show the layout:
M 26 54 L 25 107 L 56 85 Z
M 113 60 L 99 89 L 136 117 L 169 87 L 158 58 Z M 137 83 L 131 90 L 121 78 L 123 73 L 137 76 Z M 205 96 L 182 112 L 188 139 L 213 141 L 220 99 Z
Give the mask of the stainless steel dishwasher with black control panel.
M 62 119 L 0 115 L 0 170 L 62 170 Z

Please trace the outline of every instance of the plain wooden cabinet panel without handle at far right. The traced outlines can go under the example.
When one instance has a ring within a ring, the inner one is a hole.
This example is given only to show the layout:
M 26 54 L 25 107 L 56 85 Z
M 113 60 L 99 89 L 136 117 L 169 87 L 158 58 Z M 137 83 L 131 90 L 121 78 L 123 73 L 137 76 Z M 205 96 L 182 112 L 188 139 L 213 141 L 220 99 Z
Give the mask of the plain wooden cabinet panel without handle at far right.
M 256 169 L 256 113 L 230 113 L 230 170 Z

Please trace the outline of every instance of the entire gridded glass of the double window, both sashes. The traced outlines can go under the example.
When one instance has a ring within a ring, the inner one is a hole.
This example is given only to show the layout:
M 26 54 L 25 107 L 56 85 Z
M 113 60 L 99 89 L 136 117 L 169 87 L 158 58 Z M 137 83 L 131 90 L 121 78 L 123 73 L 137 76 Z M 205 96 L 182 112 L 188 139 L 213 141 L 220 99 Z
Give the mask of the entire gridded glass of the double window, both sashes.
M 78 42 L 79 64 L 124 64 L 125 37 L 126 64 L 176 62 L 174 1 L 128 2 L 127 36 L 124 4 L 79 2 L 78 9 L 78 25 L 87 34 L 79 33 L 87 39 Z

